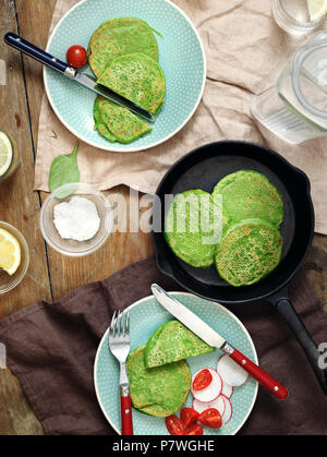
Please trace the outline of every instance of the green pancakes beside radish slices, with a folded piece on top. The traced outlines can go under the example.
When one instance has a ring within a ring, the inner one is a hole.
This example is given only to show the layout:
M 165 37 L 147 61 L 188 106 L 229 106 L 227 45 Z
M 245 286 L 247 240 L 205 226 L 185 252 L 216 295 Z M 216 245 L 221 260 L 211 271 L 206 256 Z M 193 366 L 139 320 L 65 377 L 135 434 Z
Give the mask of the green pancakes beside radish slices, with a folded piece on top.
M 191 370 L 184 359 L 214 350 L 178 321 L 160 325 L 126 361 L 134 408 L 159 418 L 174 414 L 191 387 Z

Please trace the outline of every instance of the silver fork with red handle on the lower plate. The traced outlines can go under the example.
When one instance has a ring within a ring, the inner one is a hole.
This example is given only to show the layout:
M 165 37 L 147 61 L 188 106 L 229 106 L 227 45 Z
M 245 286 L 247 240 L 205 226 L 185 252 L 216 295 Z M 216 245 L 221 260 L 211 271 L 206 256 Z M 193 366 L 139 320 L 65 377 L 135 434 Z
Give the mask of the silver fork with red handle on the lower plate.
M 130 353 L 130 311 L 114 311 L 109 327 L 109 349 L 120 363 L 120 409 L 122 435 L 133 435 L 130 382 L 126 358 Z

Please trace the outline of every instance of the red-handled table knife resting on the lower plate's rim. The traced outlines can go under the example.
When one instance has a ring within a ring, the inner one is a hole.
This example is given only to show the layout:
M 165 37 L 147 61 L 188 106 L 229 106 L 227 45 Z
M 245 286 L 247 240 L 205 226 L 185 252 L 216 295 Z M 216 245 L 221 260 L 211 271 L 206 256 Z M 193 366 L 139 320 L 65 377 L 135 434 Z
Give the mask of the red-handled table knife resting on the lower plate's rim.
M 157 284 L 152 285 L 152 291 L 155 299 L 184 324 L 190 330 L 197 335 L 207 345 L 221 349 L 238 365 L 251 374 L 264 387 L 279 399 L 288 396 L 288 390 L 279 384 L 274 377 L 252 362 L 246 356 L 230 345 L 221 335 L 215 332 L 208 324 L 194 314 L 189 308 L 184 306 L 174 297 L 170 296 Z

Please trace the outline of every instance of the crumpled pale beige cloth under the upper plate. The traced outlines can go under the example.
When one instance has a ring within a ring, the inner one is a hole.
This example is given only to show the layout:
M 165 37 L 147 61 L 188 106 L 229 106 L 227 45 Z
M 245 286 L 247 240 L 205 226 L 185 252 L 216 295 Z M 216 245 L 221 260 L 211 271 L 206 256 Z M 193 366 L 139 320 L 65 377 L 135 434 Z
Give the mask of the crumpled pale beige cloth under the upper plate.
M 57 1 L 50 32 L 77 2 Z M 81 143 L 81 180 L 98 190 L 126 184 L 154 193 L 169 167 L 196 146 L 218 140 L 257 142 L 306 172 L 316 212 L 315 230 L 327 234 L 326 137 L 291 146 L 261 128 L 250 112 L 253 95 L 272 84 L 305 38 L 292 38 L 276 25 L 271 0 L 174 0 L 173 3 L 192 20 L 207 57 L 206 88 L 198 109 L 174 137 L 145 152 L 108 153 Z M 45 95 L 35 165 L 36 190 L 49 190 L 51 161 L 59 154 L 70 153 L 74 143 L 74 136 L 57 119 Z

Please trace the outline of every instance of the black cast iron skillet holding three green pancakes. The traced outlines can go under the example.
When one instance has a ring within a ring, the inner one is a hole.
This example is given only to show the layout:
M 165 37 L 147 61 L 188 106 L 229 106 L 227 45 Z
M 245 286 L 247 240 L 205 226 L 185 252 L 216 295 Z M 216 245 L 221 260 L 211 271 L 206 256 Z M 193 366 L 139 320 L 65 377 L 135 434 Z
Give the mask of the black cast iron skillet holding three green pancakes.
M 262 172 L 279 190 L 284 203 L 280 228 L 284 248 L 280 264 L 268 277 L 253 286 L 232 287 L 219 278 L 214 266 L 193 268 L 172 253 L 164 237 L 165 201 L 171 201 L 169 194 L 190 189 L 211 192 L 222 177 L 240 169 Z M 317 346 L 288 297 L 288 285 L 304 262 L 314 233 L 307 177 L 271 149 L 253 143 L 222 141 L 201 146 L 174 164 L 156 194 L 159 199 L 155 199 L 153 208 L 153 239 L 159 269 L 190 292 L 222 304 L 268 300 L 293 330 L 327 395 L 327 370 L 319 369 Z

